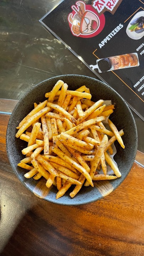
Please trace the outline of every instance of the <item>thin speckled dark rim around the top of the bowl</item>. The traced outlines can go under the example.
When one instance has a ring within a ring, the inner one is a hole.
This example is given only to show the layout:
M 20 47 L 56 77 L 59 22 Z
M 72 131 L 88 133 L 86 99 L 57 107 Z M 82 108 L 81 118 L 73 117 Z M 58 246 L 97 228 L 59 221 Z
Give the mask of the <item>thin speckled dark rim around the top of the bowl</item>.
M 116 190 L 116 188 L 117 188 L 119 185 L 121 185 L 121 183 L 125 180 L 125 178 L 126 178 L 127 175 L 129 174 L 129 171 L 131 170 L 131 168 L 132 168 L 132 166 L 133 166 L 133 163 L 134 163 L 134 160 L 135 160 L 135 156 L 136 156 L 136 153 L 137 153 L 137 147 L 138 147 L 137 126 L 136 126 L 136 124 L 135 124 L 135 120 L 134 120 L 134 117 L 133 117 L 132 112 L 130 111 L 129 106 L 128 106 L 127 103 L 124 101 L 124 99 L 118 94 L 118 92 L 116 92 L 111 86 L 105 84 L 104 82 L 102 82 L 102 81 L 100 81 L 100 80 L 98 80 L 98 79 L 95 79 L 95 78 L 91 78 L 91 77 L 89 77 L 89 76 L 76 75 L 76 74 L 66 74 L 66 75 L 54 76 L 54 77 L 52 77 L 52 78 L 49 78 L 49 79 L 46 79 L 46 80 L 44 80 L 44 81 L 39 82 L 37 85 L 35 85 L 34 87 L 32 87 L 28 92 L 26 92 L 26 94 L 18 101 L 17 105 L 15 106 L 14 110 L 12 111 L 11 117 L 10 117 L 10 119 L 9 119 L 9 123 L 8 123 L 8 125 L 7 125 L 7 131 L 6 131 L 6 151 L 7 151 L 7 156 L 8 156 L 9 162 L 10 162 L 11 167 L 12 167 L 12 169 L 14 170 L 16 176 L 17 176 L 18 179 L 20 180 L 18 171 L 15 170 L 15 167 L 14 167 L 14 165 L 12 164 L 12 161 L 11 161 L 11 155 L 9 154 L 8 132 L 9 132 L 9 129 L 10 129 L 11 119 L 12 119 L 13 116 L 15 115 L 16 109 L 21 105 L 21 101 L 23 100 L 23 98 L 26 97 L 28 94 L 30 94 L 30 92 L 33 91 L 34 88 L 39 87 L 39 85 L 41 85 L 42 83 L 46 83 L 46 82 L 48 82 L 48 81 L 50 81 L 50 80 L 53 80 L 53 79 L 57 79 L 57 80 L 59 80 L 59 79 L 62 80 L 62 79 L 63 79 L 63 80 L 64 80 L 64 78 L 65 78 L 65 77 L 68 77 L 68 76 L 69 76 L 70 78 L 73 78 L 73 77 L 77 76 L 78 78 L 87 78 L 87 79 L 91 79 L 92 81 L 95 81 L 95 82 L 98 82 L 98 83 L 101 83 L 101 84 L 107 86 L 107 87 L 108 87 L 111 91 L 113 91 L 119 98 L 121 98 L 121 101 L 123 101 L 123 104 L 127 107 L 128 111 L 129 111 L 129 113 L 130 113 L 130 116 L 131 116 L 131 118 L 132 118 L 132 120 L 133 120 L 133 124 L 134 124 L 133 128 L 134 128 L 134 132 L 135 132 L 135 134 L 136 134 L 136 136 L 135 136 L 135 148 L 134 148 L 134 151 L 133 151 L 133 157 L 132 157 L 131 163 L 130 163 L 130 165 L 129 165 L 129 170 L 127 171 L 127 173 L 126 173 L 125 175 L 123 175 L 123 177 L 121 177 L 121 180 L 119 181 L 118 185 L 117 185 L 117 186 L 114 186 L 114 188 L 113 188 L 113 191 L 114 191 L 114 190 Z M 20 181 L 21 181 L 21 180 L 20 180 Z M 23 184 L 23 186 L 25 186 L 28 190 L 30 190 L 30 191 L 33 193 L 33 190 L 32 190 L 30 187 L 27 187 L 26 184 L 25 184 L 24 182 L 22 182 L 22 181 L 21 181 L 21 183 Z M 113 192 L 113 191 L 112 191 L 112 192 Z M 112 193 L 112 192 L 111 192 L 111 193 Z M 110 193 L 110 194 L 111 194 L 111 193 Z M 33 194 L 34 194 L 34 193 L 33 193 Z M 93 199 L 91 199 L 91 200 L 86 199 L 86 200 L 83 201 L 83 202 L 74 202 L 74 201 L 72 201 L 73 199 L 70 198 L 68 203 L 60 202 L 58 199 L 57 199 L 57 201 L 53 201 L 53 199 L 50 199 L 50 198 L 48 198 L 48 199 L 47 199 L 47 198 L 42 198 L 42 199 L 44 199 L 44 200 L 47 201 L 47 202 L 51 202 L 51 203 L 55 203 L 55 204 L 60 204 L 60 205 L 77 206 L 77 205 L 89 204 L 89 203 L 92 203 L 92 202 L 96 202 L 96 201 L 98 201 L 98 200 L 100 200 L 100 199 L 102 199 L 102 198 L 104 198 L 104 197 L 103 197 L 102 195 L 100 195 L 100 196 L 97 197 L 97 198 L 93 198 Z

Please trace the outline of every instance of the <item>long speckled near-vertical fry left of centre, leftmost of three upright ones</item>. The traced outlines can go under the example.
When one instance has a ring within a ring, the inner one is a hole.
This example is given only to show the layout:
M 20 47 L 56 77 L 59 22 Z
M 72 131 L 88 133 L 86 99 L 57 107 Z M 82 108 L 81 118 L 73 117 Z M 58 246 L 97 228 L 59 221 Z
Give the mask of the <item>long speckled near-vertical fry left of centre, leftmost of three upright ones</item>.
M 41 121 L 42 121 L 43 138 L 44 138 L 44 155 L 48 155 L 49 154 L 49 136 L 48 136 L 46 117 L 42 116 Z

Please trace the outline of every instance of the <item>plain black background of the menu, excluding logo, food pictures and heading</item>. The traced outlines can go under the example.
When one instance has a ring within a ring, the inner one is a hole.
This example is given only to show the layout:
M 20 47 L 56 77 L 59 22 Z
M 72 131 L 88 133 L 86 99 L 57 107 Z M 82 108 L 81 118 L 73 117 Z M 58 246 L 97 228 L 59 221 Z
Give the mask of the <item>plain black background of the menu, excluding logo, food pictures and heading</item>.
M 144 87 L 138 92 L 138 88 L 144 84 L 144 80 L 139 86 L 133 87 L 144 76 L 144 54 L 136 49 L 144 43 L 144 37 L 138 40 L 131 39 L 127 36 L 126 28 L 132 17 L 139 11 L 144 10 L 144 3 L 141 0 L 123 0 L 116 12 L 111 14 L 109 11 L 104 12 L 105 27 L 102 32 L 92 38 L 81 38 L 73 36 L 68 23 L 68 14 L 72 12 L 71 6 L 75 5 L 74 0 L 64 0 L 50 11 L 40 21 L 51 32 L 59 38 L 66 46 L 76 55 L 82 58 L 82 61 L 89 65 L 96 65 L 98 58 L 106 58 L 126 53 L 138 53 L 138 67 L 119 69 L 99 73 L 95 69 L 94 73 L 113 87 L 132 107 L 132 109 L 144 120 Z M 91 5 L 91 1 L 84 0 L 85 4 Z M 138 10 L 139 9 L 139 10 Z M 135 12 L 135 14 L 134 14 Z M 133 15 L 134 14 L 134 15 Z M 132 16 L 133 15 L 133 16 Z M 132 16 L 132 17 L 130 17 Z M 130 17 L 130 18 L 129 18 Z M 128 19 L 128 20 L 127 20 Z M 127 20 L 127 21 L 126 21 Z M 119 30 L 105 46 L 101 49 L 98 44 L 116 28 L 119 23 L 123 28 Z M 97 49 L 97 50 L 96 50 Z M 89 67 L 90 68 L 90 67 Z M 90 68 L 91 69 L 91 68 Z

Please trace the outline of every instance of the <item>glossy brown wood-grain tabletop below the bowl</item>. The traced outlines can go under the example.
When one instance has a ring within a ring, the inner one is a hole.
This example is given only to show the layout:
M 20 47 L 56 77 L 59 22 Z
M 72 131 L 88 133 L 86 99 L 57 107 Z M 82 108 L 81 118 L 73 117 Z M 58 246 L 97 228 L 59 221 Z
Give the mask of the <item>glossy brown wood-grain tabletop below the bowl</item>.
M 14 174 L 6 154 L 9 115 L 0 114 L 1 256 L 143 256 L 144 168 L 100 201 L 62 206 L 36 197 Z

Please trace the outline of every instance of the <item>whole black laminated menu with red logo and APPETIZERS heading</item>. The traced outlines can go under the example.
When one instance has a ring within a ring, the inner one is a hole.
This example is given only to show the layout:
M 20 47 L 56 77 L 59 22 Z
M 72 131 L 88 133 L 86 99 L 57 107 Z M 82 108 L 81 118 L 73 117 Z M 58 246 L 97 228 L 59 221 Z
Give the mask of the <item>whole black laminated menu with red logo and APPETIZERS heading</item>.
M 144 120 L 143 0 L 64 0 L 40 22 Z

